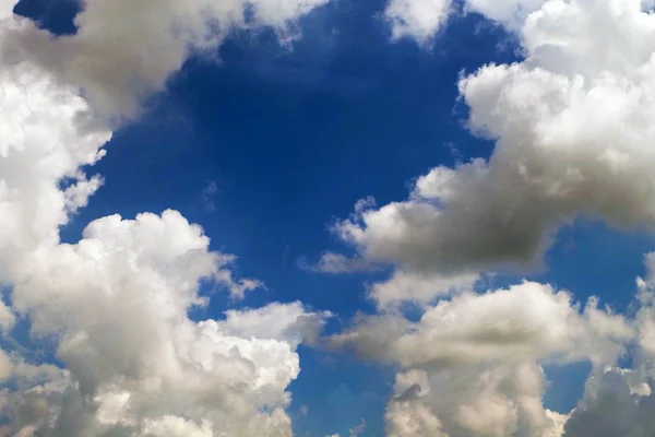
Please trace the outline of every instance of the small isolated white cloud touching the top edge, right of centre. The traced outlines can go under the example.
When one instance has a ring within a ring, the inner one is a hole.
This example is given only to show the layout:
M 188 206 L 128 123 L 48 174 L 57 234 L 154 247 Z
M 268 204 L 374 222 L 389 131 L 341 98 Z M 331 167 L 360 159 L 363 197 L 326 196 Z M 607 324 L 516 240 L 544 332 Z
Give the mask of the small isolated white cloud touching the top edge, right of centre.
M 384 16 L 394 39 L 413 37 L 426 43 L 445 24 L 452 0 L 390 0 Z

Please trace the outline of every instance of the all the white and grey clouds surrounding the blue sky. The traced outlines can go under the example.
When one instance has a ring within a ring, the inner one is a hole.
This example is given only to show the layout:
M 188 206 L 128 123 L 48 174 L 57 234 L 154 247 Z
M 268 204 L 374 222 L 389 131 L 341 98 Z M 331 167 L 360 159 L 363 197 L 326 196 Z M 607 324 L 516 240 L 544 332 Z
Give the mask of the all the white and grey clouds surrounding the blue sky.
M 323 3 L 87 0 L 78 33 L 53 36 L 0 1 L 0 283 L 12 288 L 0 329 L 9 334 L 27 318 L 64 365 L 0 351 L 0 435 L 291 436 L 297 349 L 317 340 L 330 314 L 293 303 L 190 319 L 207 304 L 203 284 L 238 299 L 262 283 L 235 279 L 235 257 L 212 251 L 202 228 L 175 211 L 102 217 L 75 244 L 61 244 L 59 229 L 103 184 L 85 173 L 111 137 L 98 116 L 134 115 L 189 56 L 231 29 L 272 26 L 289 38 Z M 546 284 L 473 290 L 487 272 L 538 264 L 557 229 L 581 215 L 655 225 L 650 7 L 465 2 L 514 32 L 525 51 L 522 62 L 488 64 L 458 83 L 471 131 L 496 143 L 491 157 L 432 168 L 404 201 L 359 202 L 334 227 L 358 258 L 327 252 L 317 267 L 395 269 L 369 288 L 380 312 L 330 339 L 397 367 L 390 436 L 655 433 L 655 256 L 634 319 Z M 394 38 L 422 43 L 451 8 L 392 0 L 385 17 Z M 405 302 L 422 309 L 418 321 L 397 309 Z M 629 346 L 635 365 L 623 369 Z M 593 374 L 579 406 L 546 409 L 543 366 L 582 361 Z

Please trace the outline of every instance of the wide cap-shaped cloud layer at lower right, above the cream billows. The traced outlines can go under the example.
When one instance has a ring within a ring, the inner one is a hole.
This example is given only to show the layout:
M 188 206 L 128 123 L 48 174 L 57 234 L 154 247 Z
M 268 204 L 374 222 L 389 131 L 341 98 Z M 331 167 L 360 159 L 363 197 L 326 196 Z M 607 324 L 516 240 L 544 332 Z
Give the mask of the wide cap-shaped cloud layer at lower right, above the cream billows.
M 580 312 L 569 293 L 525 282 L 441 300 L 415 323 L 393 314 L 362 317 L 332 342 L 405 368 L 457 368 L 487 361 L 611 364 L 633 336 L 630 324 L 598 309 L 596 299 Z

